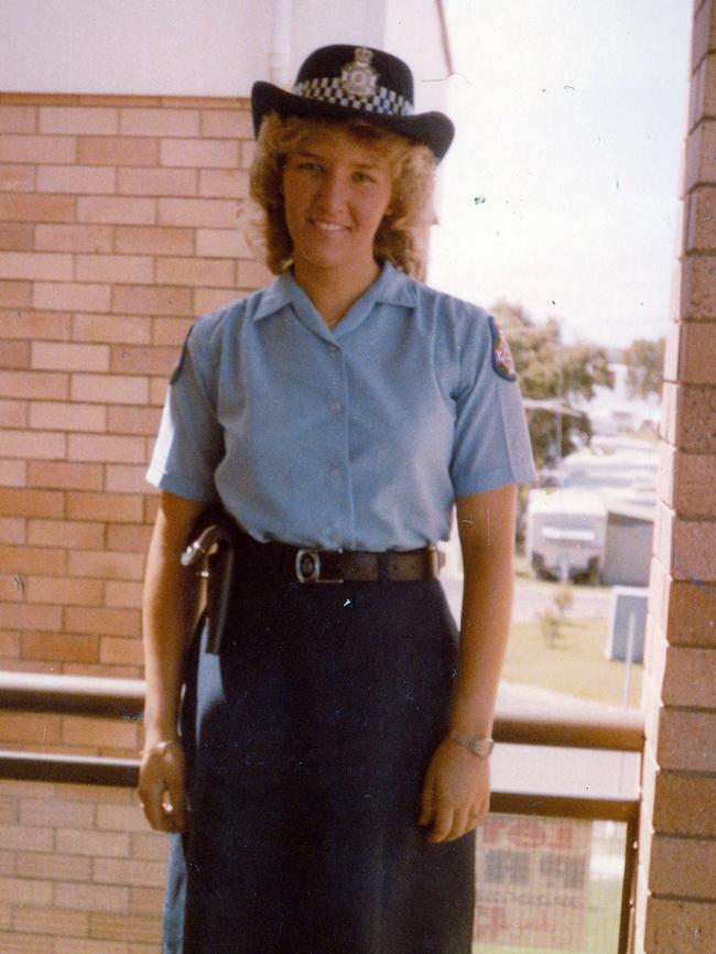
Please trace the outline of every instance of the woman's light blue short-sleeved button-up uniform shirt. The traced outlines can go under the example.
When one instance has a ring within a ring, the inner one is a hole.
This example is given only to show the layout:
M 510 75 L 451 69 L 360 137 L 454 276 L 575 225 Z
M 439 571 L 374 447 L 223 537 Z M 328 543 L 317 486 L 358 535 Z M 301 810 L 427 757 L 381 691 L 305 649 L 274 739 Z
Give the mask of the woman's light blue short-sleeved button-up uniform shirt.
M 148 479 L 258 540 L 409 550 L 534 478 L 490 316 L 386 264 L 330 330 L 291 273 L 192 328 Z

